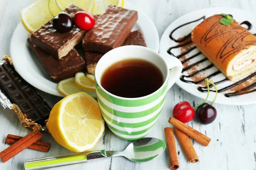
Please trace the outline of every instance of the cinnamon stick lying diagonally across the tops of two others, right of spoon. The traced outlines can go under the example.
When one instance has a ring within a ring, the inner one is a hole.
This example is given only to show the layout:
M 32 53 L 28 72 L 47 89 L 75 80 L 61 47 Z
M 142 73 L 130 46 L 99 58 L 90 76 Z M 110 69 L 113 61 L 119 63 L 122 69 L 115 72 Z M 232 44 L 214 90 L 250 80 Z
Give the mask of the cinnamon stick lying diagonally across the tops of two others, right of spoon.
M 189 127 L 185 123 L 180 122 L 174 117 L 170 117 L 168 122 L 173 126 L 177 127 L 179 130 L 183 131 L 183 133 L 185 133 L 187 136 L 190 136 L 191 138 L 195 139 L 195 141 L 197 141 L 198 143 L 204 146 L 208 146 L 209 142 L 211 141 L 211 139 L 205 136 L 204 134 L 198 132 L 192 127 Z

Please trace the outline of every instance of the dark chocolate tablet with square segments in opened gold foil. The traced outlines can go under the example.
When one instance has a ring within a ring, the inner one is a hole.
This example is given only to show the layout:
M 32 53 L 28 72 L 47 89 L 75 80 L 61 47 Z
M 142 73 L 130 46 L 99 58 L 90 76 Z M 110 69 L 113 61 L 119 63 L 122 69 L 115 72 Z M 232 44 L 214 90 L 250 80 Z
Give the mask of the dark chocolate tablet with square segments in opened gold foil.
M 26 113 L 28 119 L 44 125 L 44 121 L 49 118 L 49 106 L 8 61 L 0 61 L 0 88 L 12 103 Z

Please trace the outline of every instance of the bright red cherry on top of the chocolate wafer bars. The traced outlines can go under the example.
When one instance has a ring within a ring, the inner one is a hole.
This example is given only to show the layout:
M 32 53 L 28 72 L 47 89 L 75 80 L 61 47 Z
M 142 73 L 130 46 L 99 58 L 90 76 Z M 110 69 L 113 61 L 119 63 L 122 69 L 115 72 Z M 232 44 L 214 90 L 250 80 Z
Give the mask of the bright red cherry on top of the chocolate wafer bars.
M 74 22 L 76 27 L 81 30 L 89 30 L 95 25 L 94 17 L 85 11 L 76 12 Z

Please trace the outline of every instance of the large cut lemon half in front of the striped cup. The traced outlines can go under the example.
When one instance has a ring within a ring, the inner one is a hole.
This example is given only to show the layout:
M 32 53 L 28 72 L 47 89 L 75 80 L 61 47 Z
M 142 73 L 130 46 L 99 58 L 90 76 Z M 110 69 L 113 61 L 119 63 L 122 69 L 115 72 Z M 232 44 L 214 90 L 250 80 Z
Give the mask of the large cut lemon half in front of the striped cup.
M 84 92 L 59 101 L 47 122 L 47 130 L 55 141 L 73 152 L 92 149 L 104 129 L 98 102 Z

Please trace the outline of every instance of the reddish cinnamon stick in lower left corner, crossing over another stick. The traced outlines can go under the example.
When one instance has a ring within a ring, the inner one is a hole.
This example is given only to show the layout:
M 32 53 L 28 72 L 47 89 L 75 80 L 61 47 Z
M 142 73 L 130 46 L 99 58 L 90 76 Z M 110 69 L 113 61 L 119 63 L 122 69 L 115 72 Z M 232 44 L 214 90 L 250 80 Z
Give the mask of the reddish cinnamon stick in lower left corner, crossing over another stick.
M 34 130 L 31 133 L 24 136 L 22 139 L 12 144 L 10 147 L 0 152 L 0 158 L 2 159 L 3 162 L 6 162 L 9 159 L 11 159 L 13 156 L 20 153 L 22 150 L 29 147 L 34 142 L 41 139 L 42 137 L 43 135 L 42 133 L 39 132 L 39 130 Z

